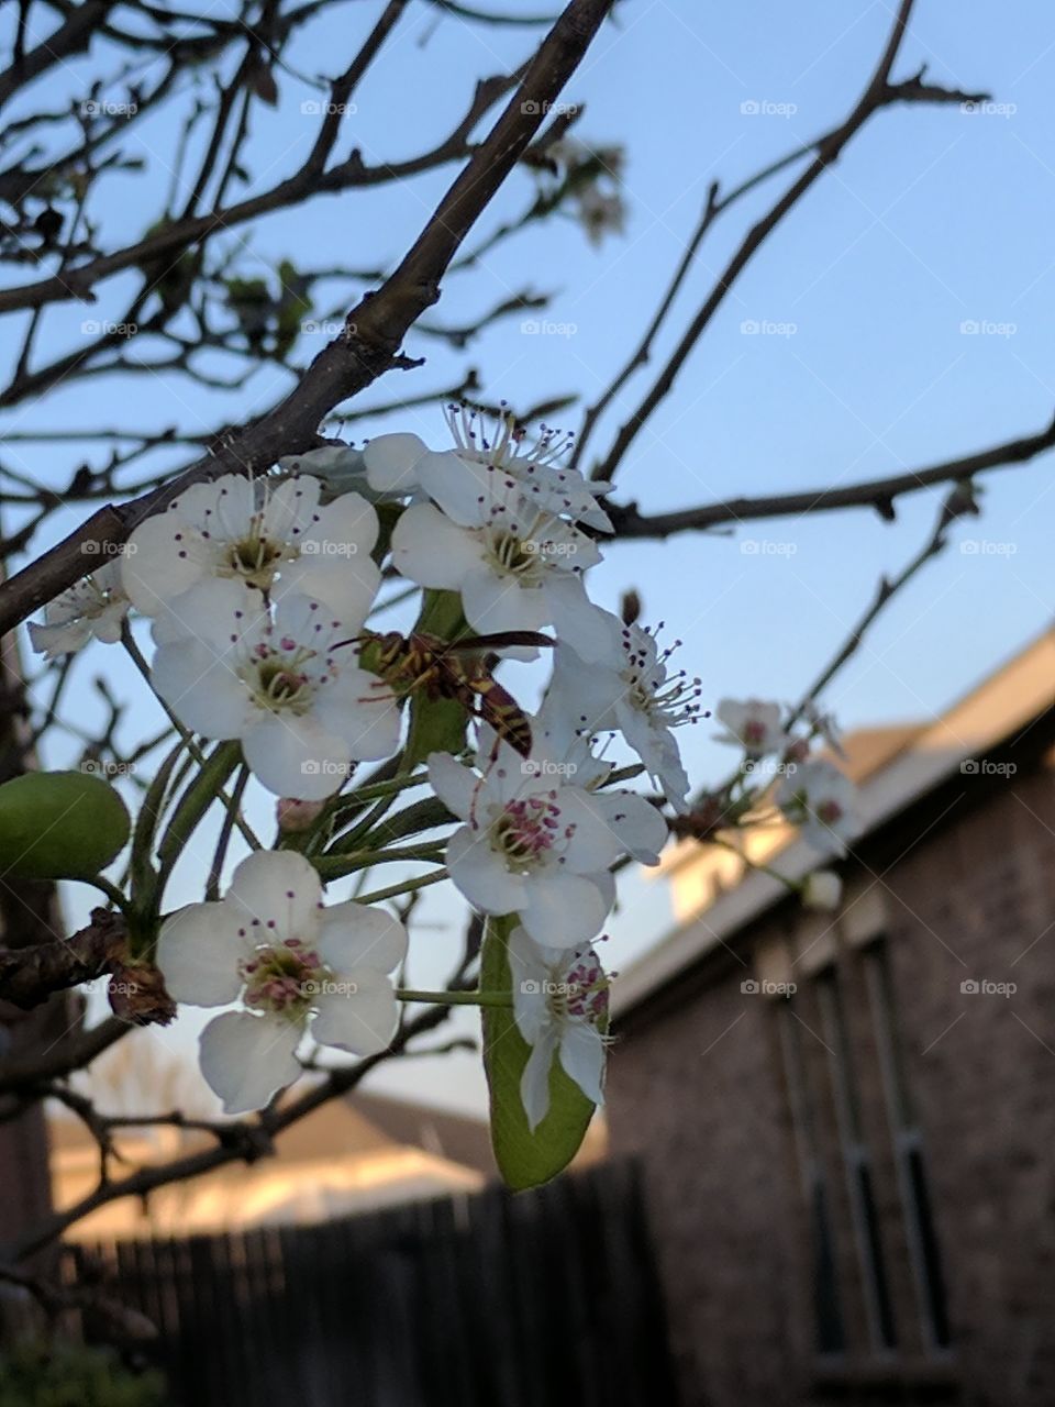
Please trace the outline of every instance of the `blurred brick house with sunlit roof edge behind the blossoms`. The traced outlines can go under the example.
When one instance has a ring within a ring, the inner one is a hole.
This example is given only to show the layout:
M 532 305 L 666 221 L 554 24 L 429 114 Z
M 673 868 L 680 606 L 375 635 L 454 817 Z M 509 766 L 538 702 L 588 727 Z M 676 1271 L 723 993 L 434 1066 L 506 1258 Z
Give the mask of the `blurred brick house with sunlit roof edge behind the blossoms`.
M 836 915 L 736 855 L 668 864 L 608 1113 L 684 1407 L 1055 1401 L 1054 705 L 1045 633 L 937 722 L 851 737 Z

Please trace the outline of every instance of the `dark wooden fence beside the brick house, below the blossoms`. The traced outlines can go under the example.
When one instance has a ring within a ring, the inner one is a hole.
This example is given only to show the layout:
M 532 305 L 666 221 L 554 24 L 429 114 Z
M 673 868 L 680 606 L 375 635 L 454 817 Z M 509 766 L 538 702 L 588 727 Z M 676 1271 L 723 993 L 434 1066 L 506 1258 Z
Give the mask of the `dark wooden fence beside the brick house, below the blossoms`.
M 160 1331 L 179 1407 L 668 1407 L 632 1164 L 329 1221 L 68 1247 Z

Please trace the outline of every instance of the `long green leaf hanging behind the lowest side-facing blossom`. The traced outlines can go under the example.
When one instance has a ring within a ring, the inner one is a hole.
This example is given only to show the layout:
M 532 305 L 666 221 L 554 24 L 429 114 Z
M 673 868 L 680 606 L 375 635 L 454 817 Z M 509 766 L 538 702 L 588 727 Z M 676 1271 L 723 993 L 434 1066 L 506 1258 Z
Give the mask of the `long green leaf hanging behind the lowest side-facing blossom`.
M 509 992 L 508 938 L 516 917 L 488 919 L 480 958 L 480 989 Z M 530 1045 L 520 1036 L 512 1006 L 481 1009 L 484 1021 L 484 1074 L 491 1099 L 491 1144 L 502 1179 L 516 1192 L 556 1178 L 578 1152 L 587 1135 L 594 1104 L 570 1079 L 558 1059 L 550 1069 L 550 1109 L 535 1130 L 520 1102 L 520 1076 Z

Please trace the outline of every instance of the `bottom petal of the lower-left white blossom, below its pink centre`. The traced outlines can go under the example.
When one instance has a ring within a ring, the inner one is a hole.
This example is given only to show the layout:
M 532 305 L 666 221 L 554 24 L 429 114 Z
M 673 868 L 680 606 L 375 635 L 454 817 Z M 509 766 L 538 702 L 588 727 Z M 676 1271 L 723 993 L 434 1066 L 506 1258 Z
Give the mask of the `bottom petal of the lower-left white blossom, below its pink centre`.
M 224 1100 L 224 1113 L 263 1109 L 301 1072 L 294 1059 L 302 1030 L 291 1021 L 225 1012 L 201 1033 L 201 1074 Z

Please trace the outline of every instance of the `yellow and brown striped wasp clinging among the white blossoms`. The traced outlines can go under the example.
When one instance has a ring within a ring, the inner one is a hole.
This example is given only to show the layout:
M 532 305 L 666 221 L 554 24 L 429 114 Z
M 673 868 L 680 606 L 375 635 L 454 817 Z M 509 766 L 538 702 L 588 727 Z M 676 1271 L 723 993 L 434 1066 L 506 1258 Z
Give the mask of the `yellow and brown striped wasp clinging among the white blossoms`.
M 485 654 L 511 646 L 553 644 L 535 630 L 505 630 L 498 635 L 466 636 L 445 640 L 437 635 L 415 632 L 384 635 L 367 630 L 360 637 L 362 663 L 377 674 L 394 694 L 405 696 L 422 689 L 429 699 L 453 699 L 480 722 L 490 725 L 498 740 L 520 757 L 532 751 L 532 725 L 528 715 L 494 678 Z

